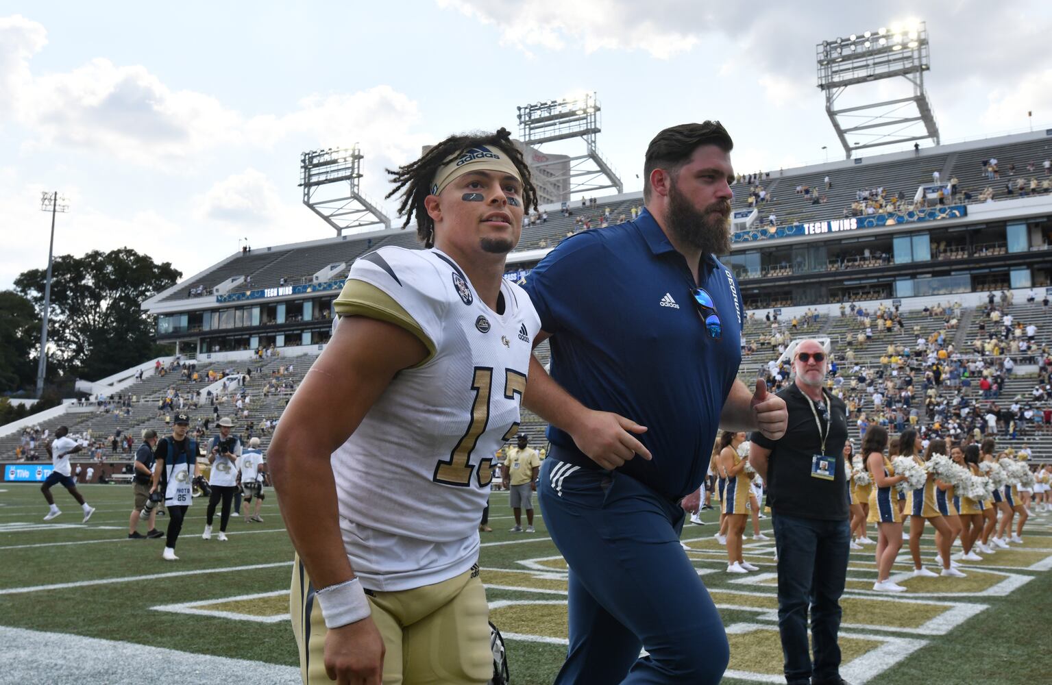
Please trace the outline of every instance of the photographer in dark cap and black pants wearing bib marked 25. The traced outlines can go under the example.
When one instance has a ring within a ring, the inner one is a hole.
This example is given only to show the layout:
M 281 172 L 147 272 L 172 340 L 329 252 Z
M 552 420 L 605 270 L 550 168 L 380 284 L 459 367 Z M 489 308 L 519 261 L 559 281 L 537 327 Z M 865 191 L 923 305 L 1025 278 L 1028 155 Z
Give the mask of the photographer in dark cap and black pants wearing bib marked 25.
M 165 561 L 179 559 L 176 557 L 176 542 L 183 529 L 186 509 L 194 503 L 194 483 L 203 482 L 201 467 L 197 463 L 197 441 L 186 435 L 189 427 L 189 417 L 182 411 L 177 412 L 171 435 L 160 441 L 154 452 L 156 461 L 149 492 L 151 496 L 161 493 L 171 519 L 164 546 Z

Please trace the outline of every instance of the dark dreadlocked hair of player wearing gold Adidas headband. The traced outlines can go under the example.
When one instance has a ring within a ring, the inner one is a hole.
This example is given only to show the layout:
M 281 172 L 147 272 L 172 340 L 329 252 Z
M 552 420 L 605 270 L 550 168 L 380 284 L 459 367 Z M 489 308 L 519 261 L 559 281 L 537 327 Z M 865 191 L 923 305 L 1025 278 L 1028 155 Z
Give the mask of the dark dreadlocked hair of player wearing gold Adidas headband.
M 424 198 L 431 194 L 434 175 L 465 149 L 479 145 L 492 145 L 504 150 L 523 180 L 523 211 L 529 213 L 530 207 L 537 209 L 537 188 L 533 187 L 529 166 L 526 165 L 522 153 L 511 142 L 511 134 L 507 128 L 502 126 L 493 134 L 474 132 L 450 136 L 424 153 L 416 162 L 403 164 L 398 169 L 387 169 L 394 189 L 388 193 L 385 199 L 390 199 L 402 192 L 402 204 L 398 208 L 398 213 L 405 217 L 402 227 L 408 226 L 410 219 L 416 218 L 417 238 L 425 247 L 434 246 L 434 220 L 424 206 Z

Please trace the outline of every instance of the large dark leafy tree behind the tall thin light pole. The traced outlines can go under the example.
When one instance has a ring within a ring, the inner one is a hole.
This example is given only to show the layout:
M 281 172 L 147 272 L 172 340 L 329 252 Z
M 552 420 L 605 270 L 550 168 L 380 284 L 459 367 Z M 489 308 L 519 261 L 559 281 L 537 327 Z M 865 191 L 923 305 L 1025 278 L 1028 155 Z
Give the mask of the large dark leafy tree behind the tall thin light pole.
M 155 317 L 143 300 L 174 285 L 182 273 L 170 262 L 122 247 L 92 250 L 83 257 L 62 255 L 52 265 L 48 358 L 66 374 L 99 379 L 149 359 Z M 16 289 L 43 313 L 44 269 L 23 271 Z M 39 337 L 38 344 L 39 347 Z

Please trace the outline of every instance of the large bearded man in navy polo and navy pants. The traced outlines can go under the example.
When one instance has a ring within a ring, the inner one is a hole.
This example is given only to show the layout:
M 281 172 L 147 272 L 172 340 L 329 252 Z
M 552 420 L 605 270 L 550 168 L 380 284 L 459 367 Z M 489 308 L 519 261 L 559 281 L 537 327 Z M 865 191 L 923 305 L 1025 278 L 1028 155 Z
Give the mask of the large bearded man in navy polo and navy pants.
M 778 438 L 786 419 L 766 385 L 735 379 L 745 307 L 714 256 L 729 251 L 731 147 L 719 122 L 661 132 L 638 218 L 563 241 L 526 280 L 551 375 L 534 358 L 523 403 L 551 424 L 538 499 L 569 566 L 557 683 L 719 683 L 727 667 L 679 500 L 720 427 Z

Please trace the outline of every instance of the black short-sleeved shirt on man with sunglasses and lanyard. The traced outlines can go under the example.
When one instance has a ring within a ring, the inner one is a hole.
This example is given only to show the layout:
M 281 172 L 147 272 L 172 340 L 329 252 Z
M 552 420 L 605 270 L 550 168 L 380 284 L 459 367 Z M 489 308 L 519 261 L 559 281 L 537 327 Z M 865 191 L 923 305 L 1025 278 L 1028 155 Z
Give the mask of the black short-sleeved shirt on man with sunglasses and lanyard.
M 814 423 L 814 412 L 808 399 L 793 383 L 777 394 L 785 400 L 789 423 L 781 440 L 771 441 L 758 431 L 749 440 L 771 455 L 767 461 L 767 502 L 775 515 L 785 513 L 805 519 L 848 519 L 848 482 L 844 464 L 844 443 L 848 439 L 847 406 L 839 398 L 826 394 L 828 415 L 832 420 L 826 438 L 827 457 L 833 457 L 836 470 L 833 480 L 811 476 L 811 461 L 822 452 L 822 437 Z M 831 400 L 831 402 L 830 402 Z M 815 403 L 823 431 L 826 420 Z

